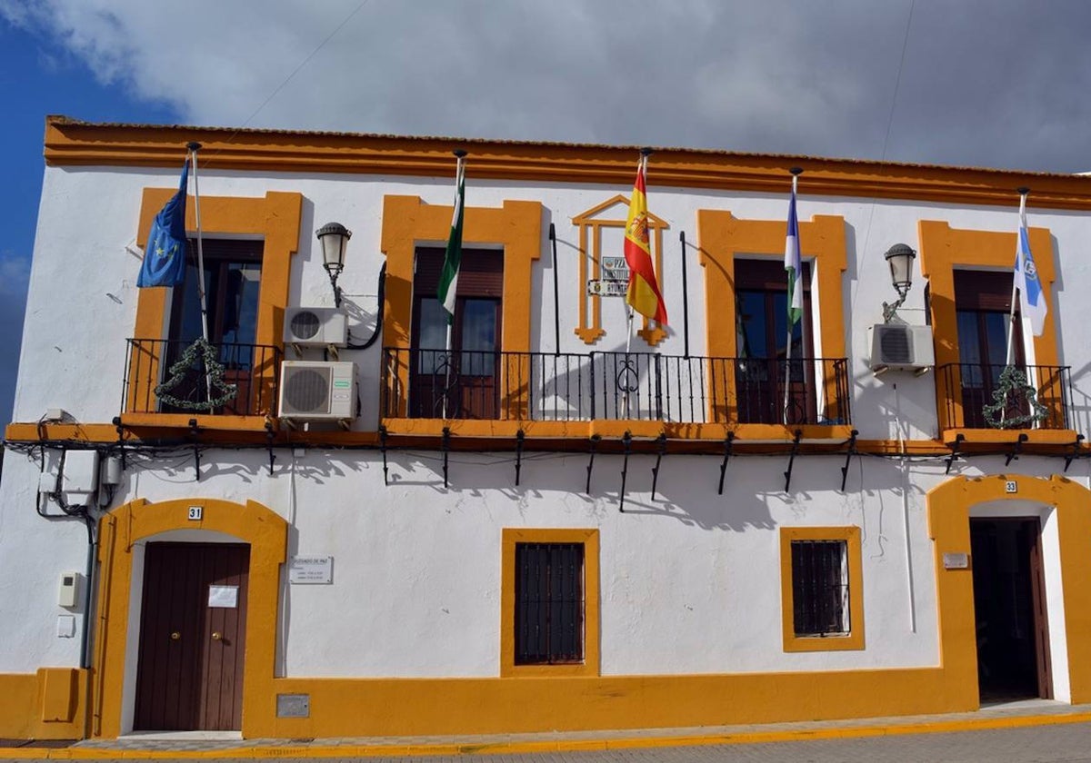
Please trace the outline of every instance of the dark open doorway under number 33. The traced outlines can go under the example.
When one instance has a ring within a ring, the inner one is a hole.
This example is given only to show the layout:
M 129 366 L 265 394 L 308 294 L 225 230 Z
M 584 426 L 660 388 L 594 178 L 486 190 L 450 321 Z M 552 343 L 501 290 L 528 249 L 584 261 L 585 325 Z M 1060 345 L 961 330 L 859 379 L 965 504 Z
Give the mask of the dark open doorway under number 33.
M 1038 518 L 970 520 L 982 702 L 1050 699 L 1050 639 Z

